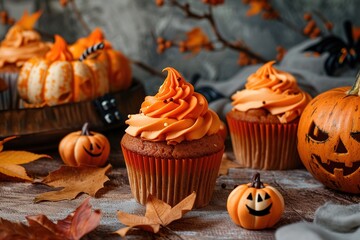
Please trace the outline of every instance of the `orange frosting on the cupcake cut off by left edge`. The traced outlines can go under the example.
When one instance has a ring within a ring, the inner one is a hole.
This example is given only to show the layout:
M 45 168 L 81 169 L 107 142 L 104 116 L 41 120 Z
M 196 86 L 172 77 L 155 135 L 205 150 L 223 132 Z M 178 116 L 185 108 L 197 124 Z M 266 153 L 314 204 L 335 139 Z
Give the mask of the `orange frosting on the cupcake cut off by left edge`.
M 32 57 L 44 56 L 50 46 L 51 43 L 41 41 L 41 36 L 36 31 L 14 25 L 1 42 L 0 67 L 7 64 L 21 67 Z

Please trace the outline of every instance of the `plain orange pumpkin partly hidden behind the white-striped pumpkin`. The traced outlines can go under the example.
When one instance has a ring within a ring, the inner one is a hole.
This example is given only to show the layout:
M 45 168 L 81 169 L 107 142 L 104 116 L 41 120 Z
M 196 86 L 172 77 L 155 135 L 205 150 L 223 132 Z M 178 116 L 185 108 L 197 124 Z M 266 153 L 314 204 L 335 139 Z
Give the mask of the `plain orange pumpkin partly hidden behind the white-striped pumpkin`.
M 80 58 L 85 49 L 99 42 L 104 42 L 105 48 L 104 51 L 98 55 L 97 60 L 102 61 L 107 67 L 110 91 L 116 92 L 118 90 L 128 89 L 132 83 L 130 61 L 120 51 L 112 48 L 100 28 L 95 28 L 89 36 L 77 40 L 69 47 L 69 50 L 74 58 Z

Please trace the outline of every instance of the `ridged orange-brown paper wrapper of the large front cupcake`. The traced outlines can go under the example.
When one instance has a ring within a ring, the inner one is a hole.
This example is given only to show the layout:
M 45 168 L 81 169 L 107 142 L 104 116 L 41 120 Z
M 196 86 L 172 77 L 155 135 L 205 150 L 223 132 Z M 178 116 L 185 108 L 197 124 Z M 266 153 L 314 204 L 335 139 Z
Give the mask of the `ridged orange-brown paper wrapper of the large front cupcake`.
M 131 192 L 138 202 L 145 205 L 152 194 L 175 206 L 195 191 L 195 208 L 209 203 L 224 152 L 193 159 L 160 159 L 122 150 Z

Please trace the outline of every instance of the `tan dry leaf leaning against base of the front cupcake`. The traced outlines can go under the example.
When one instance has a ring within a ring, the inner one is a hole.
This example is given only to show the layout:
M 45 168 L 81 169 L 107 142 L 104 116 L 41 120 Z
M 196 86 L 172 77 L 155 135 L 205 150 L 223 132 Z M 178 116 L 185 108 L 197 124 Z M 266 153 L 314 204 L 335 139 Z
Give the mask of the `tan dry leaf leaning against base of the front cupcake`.
M 140 228 L 145 231 L 157 233 L 160 227 L 165 227 L 171 222 L 183 217 L 185 213 L 190 211 L 195 203 L 196 193 L 193 192 L 176 206 L 171 206 L 156 197 L 149 195 L 146 202 L 145 216 L 118 211 L 117 217 L 119 221 L 128 227 L 121 228 L 115 233 L 124 237 L 132 228 Z

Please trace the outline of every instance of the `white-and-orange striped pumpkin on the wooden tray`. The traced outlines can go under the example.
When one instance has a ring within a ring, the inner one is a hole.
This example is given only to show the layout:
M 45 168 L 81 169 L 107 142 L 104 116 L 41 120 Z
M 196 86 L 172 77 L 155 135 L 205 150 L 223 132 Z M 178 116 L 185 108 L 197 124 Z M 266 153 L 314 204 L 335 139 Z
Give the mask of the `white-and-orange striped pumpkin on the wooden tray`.
M 26 106 L 54 106 L 94 99 L 109 92 L 103 63 L 96 59 L 74 60 L 63 38 L 44 58 L 25 62 L 18 79 L 20 97 Z

